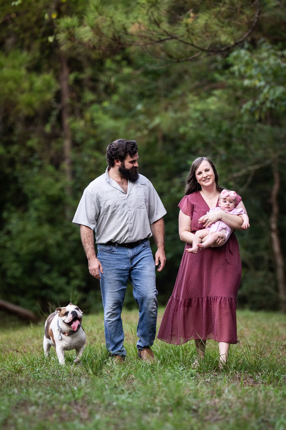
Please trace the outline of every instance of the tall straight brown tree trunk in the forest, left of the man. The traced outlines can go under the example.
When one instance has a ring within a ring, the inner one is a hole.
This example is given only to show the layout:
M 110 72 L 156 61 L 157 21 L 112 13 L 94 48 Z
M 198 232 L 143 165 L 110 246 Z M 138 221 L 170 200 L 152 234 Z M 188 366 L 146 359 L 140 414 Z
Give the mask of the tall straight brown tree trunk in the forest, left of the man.
M 66 174 L 66 195 L 72 196 L 72 136 L 69 126 L 69 68 L 67 60 L 60 51 L 61 71 L 60 71 L 60 92 L 62 106 L 62 128 L 63 128 L 63 168 Z M 70 218 L 70 207 L 66 205 L 66 218 Z

